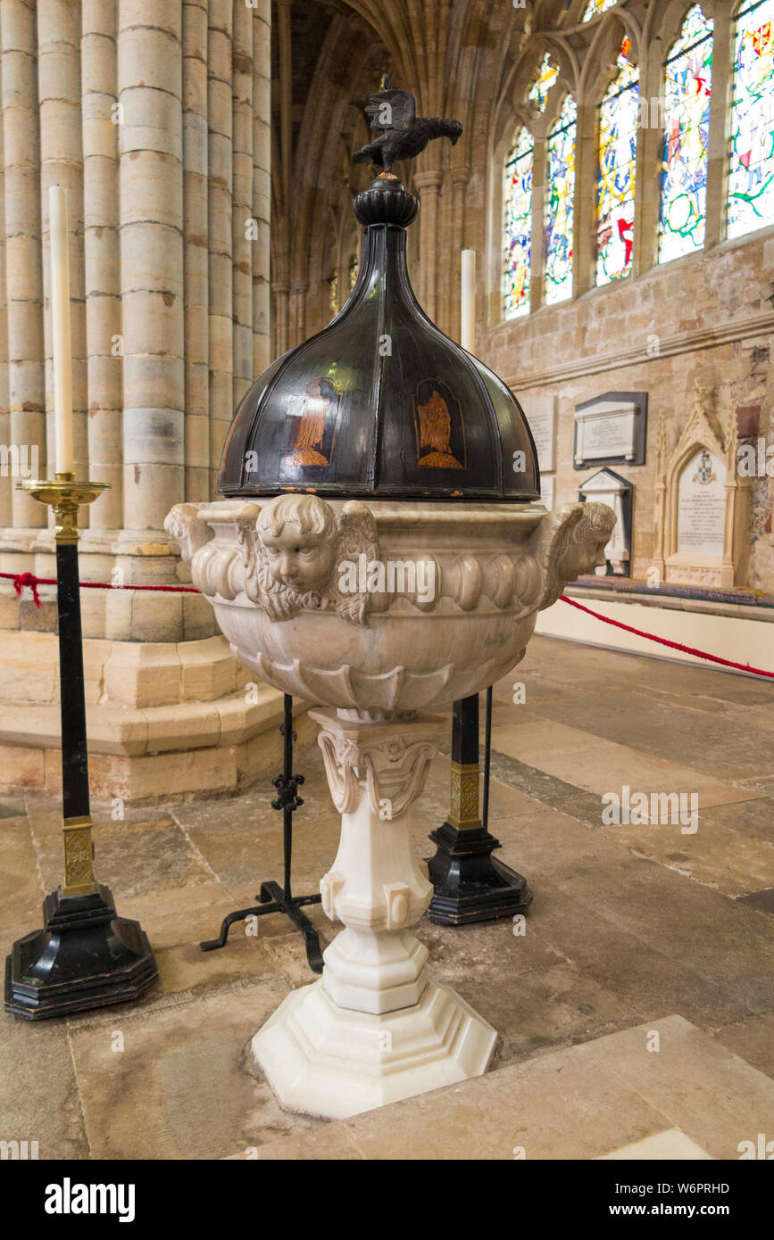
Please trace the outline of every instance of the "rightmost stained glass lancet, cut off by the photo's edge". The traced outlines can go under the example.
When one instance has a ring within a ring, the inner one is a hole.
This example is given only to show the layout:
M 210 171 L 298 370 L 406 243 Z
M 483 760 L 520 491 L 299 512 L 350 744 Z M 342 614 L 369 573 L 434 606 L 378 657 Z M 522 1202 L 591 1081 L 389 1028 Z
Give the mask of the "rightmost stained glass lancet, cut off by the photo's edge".
M 737 17 L 728 170 L 728 236 L 774 223 L 774 0 Z

